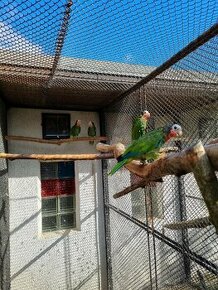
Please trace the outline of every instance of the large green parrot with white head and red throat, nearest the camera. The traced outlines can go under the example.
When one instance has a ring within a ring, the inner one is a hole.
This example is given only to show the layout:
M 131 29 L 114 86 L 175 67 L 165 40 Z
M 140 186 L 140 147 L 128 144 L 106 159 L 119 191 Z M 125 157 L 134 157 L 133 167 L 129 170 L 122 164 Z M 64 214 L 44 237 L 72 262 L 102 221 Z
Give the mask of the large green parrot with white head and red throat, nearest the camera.
M 143 137 L 133 141 L 125 152 L 117 158 L 118 163 L 111 169 L 109 175 L 131 162 L 132 160 L 157 159 L 159 149 L 173 137 L 182 136 L 182 128 L 178 124 L 170 124 L 146 133 Z

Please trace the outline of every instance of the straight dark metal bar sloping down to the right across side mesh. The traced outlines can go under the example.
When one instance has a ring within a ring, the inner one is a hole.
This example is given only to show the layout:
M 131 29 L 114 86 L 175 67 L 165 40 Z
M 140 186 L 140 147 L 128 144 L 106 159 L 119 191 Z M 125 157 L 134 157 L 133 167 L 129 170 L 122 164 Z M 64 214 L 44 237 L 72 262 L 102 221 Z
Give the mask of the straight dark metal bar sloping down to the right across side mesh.
M 106 207 L 110 208 L 111 210 L 115 211 L 116 213 L 120 214 L 122 217 L 125 217 L 127 220 L 133 222 L 140 228 L 146 230 L 149 234 L 154 235 L 157 239 L 161 240 L 174 250 L 176 250 L 179 253 L 182 253 L 183 255 L 186 255 L 189 257 L 192 261 L 196 262 L 200 266 L 207 269 L 209 272 L 218 275 L 218 266 L 216 266 L 214 263 L 208 261 L 207 259 L 199 256 L 198 254 L 194 253 L 193 251 L 182 247 L 179 243 L 171 240 L 170 238 L 166 237 L 162 233 L 158 232 L 155 229 L 152 229 L 150 226 L 140 222 L 139 220 L 135 219 L 134 217 L 130 216 L 129 214 L 125 213 L 124 211 L 118 209 L 117 207 L 111 205 L 111 204 L 105 204 Z

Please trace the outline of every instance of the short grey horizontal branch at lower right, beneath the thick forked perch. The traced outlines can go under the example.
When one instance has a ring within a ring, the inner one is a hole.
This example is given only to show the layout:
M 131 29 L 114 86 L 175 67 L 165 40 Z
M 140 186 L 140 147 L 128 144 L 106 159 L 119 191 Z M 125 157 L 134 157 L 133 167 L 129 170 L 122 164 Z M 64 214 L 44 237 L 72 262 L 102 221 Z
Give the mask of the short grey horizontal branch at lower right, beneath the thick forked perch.
M 209 217 L 196 218 L 193 220 L 175 222 L 171 224 L 164 225 L 165 228 L 171 230 L 182 230 L 182 229 L 191 229 L 191 228 L 205 228 L 212 225 Z

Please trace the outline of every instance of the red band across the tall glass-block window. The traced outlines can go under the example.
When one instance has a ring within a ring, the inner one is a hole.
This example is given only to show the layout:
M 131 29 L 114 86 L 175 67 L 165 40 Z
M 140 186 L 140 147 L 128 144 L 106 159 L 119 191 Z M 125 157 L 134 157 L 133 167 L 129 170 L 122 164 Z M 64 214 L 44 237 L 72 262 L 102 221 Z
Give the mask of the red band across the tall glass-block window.
M 42 197 L 75 194 L 75 179 L 49 179 L 41 181 Z

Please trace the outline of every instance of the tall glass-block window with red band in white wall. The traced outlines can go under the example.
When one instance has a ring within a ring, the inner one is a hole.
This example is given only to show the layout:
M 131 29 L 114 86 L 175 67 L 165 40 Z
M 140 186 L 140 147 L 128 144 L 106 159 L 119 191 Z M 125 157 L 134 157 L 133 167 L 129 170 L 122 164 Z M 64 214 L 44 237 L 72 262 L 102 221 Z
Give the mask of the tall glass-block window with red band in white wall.
M 74 162 L 41 163 L 42 232 L 76 227 Z

